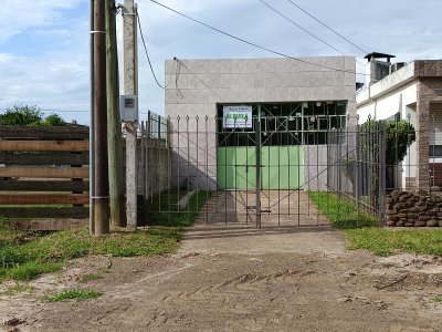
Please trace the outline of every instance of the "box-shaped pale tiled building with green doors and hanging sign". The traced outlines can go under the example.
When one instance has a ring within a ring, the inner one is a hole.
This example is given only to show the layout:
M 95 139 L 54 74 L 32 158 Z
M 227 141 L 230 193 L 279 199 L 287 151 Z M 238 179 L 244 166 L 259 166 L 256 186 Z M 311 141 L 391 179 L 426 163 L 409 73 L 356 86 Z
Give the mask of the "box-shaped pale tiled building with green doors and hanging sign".
M 253 188 L 263 167 L 263 189 L 325 189 L 325 135 L 356 116 L 355 63 L 351 56 L 166 61 L 176 185 Z

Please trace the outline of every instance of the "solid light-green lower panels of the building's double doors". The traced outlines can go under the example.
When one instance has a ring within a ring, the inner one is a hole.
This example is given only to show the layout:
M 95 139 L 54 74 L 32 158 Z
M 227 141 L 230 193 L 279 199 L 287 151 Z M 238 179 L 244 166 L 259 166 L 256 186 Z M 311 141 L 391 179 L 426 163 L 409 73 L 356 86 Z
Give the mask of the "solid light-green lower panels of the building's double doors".
M 304 183 L 302 146 L 261 147 L 261 189 L 297 189 Z M 255 147 L 218 147 L 217 178 L 220 189 L 256 188 Z

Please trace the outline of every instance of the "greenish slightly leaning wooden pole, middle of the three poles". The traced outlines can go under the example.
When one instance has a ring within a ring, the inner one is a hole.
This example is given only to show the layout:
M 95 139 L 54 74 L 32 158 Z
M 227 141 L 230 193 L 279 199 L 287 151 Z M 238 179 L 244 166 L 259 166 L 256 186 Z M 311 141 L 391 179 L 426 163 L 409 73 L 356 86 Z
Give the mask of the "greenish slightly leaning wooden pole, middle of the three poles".
M 118 54 L 115 0 L 106 0 L 107 144 L 109 154 L 109 204 L 113 227 L 126 226 L 123 181 L 123 138 L 119 116 Z

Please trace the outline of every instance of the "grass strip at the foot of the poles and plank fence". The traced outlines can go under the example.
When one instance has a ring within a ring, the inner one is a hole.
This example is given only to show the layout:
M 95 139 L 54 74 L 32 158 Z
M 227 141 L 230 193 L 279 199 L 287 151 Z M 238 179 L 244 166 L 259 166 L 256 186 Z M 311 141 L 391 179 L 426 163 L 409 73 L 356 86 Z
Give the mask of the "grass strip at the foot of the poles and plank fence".
M 96 238 L 91 237 L 86 228 L 80 228 L 17 243 L 18 234 L 14 230 L 0 234 L 0 280 L 31 280 L 86 255 L 133 257 L 175 252 L 182 237 L 178 228 L 152 227 Z

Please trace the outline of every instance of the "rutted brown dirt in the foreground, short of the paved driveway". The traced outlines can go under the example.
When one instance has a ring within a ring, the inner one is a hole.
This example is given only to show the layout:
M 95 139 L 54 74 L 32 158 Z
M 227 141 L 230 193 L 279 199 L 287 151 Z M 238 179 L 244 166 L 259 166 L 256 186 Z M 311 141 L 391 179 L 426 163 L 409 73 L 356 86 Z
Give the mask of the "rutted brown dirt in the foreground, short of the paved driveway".
M 88 284 L 104 297 L 39 303 L 20 318 L 32 331 L 434 332 L 441 276 L 362 252 L 118 259 Z

